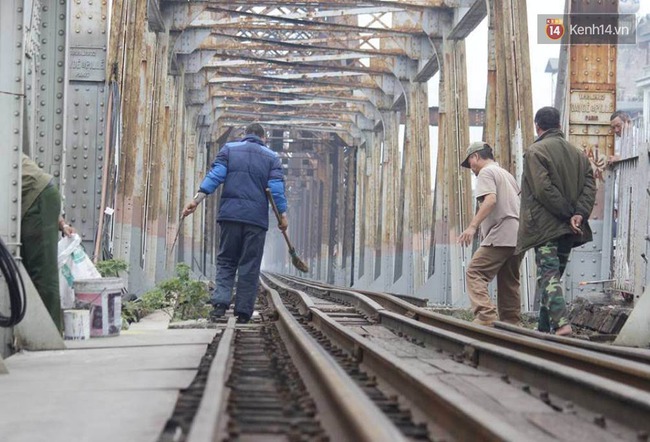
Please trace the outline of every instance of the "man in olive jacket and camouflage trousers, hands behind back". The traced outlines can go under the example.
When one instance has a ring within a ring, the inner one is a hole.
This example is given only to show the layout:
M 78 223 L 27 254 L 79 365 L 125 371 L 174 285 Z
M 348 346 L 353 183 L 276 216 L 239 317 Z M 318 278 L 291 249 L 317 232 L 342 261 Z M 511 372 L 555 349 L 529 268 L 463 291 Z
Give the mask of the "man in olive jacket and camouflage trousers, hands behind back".
M 571 249 L 593 239 L 596 181 L 587 156 L 564 138 L 557 109 L 538 110 L 535 129 L 538 138 L 524 152 L 515 253 L 535 248 L 539 330 L 570 335 L 560 279 Z

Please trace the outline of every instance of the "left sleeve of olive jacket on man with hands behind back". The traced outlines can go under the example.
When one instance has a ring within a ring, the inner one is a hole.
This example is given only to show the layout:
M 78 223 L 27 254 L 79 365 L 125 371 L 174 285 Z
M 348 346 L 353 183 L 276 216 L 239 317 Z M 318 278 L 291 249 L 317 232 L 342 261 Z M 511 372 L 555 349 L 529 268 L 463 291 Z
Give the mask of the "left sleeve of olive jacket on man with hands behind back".
M 548 160 L 536 151 L 526 153 L 524 168 L 533 196 L 544 208 L 562 221 L 573 216 L 573 206 L 551 180 Z

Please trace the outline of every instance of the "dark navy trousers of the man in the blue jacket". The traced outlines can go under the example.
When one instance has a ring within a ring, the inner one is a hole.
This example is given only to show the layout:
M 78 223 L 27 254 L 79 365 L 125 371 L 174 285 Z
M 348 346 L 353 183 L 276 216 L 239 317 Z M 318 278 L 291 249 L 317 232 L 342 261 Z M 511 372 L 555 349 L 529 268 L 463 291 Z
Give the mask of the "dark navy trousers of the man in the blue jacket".
M 252 224 L 226 221 L 219 225 L 221 240 L 217 256 L 217 287 L 211 301 L 214 305 L 230 305 L 235 274 L 238 274 L 235 314 L 250 318 L 257 298 L 266 230 Z

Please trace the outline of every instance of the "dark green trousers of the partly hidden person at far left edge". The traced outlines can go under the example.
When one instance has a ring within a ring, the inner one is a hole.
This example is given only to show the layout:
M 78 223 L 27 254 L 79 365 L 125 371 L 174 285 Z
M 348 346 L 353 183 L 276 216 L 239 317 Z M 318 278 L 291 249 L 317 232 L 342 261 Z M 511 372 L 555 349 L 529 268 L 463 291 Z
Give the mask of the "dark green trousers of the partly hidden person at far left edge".
M 55 186 L 46 187 L 31 205 L 20 224 L 21 256 L 54 324 L 62 330 L 59 294 L 59 215 L 61 195 Z

